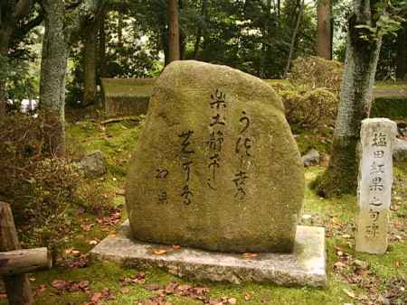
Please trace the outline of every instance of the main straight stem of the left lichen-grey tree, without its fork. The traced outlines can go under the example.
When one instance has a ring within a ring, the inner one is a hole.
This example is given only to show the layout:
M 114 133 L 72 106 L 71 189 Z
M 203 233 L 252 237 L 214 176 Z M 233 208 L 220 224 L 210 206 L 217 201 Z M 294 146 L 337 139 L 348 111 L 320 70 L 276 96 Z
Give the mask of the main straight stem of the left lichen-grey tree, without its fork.
M 41 61 L 40 105 L 50 128 L 50 150 L 65 156 L 65 77 L 69 44 L 64 29 L 64 2 L 43 0 L 45 32 Z

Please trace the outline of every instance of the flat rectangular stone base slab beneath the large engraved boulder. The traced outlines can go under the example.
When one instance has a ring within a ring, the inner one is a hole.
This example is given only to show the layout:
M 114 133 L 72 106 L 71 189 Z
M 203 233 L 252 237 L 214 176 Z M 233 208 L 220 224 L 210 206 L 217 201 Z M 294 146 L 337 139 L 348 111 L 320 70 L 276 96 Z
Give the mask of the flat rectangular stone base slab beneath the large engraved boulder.
M 108 236 L 90 251 L 91 259 L 109 260 L 137 267 L 161 267 L 169 273 L 194 280 L 273 282 L 283 286 L 327 287 L 323 227 L 298 226 L 292 254 L 258 254 L 247 258 L 243 254 L 184 247 L 175 250 L 168 245 L 138 242 L 129 236 L 130 228 L 126 221 L 117 235 Z M 166 250 L 166 253 L 154 254 L 156 250 Z

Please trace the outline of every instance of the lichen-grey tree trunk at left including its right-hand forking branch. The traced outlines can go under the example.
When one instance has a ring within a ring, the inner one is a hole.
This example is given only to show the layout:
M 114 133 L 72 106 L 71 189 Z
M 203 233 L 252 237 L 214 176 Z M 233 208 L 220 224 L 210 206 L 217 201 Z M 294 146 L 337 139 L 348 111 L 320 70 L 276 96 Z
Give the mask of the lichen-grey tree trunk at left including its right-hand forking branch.
M 71 42 L 87 22 L 94 21 L 103 0 L 85 0 L 71 12 L 65 1 L 43 0 L 45 33 L 41 62 L 40 106 L 50 128 L 54 156 L 65 156 L 65 79 Z

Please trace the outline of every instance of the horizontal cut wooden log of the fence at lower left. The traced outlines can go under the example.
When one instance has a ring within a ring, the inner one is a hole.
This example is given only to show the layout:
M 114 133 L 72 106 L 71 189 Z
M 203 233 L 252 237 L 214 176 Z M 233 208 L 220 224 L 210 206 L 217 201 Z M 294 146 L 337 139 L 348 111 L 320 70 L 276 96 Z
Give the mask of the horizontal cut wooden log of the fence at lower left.
M 51 267 L 52 259 L 47 248 L 0 252 L 0 275 L 31 273 Z

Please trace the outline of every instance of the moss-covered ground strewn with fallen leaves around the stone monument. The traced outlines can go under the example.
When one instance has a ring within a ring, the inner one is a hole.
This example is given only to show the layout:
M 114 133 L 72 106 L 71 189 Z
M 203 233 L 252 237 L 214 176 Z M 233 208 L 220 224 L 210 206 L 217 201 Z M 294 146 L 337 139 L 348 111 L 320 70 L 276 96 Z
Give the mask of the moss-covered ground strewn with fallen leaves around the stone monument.
M 90 263 L 86 253 L 104 236 L 114 233 L 126 217 L 121 189 L 141 123 L 121 122 L 99 125 L 80 122 L 69 127 L 71 153 L 78 158 L 85 152 L 101 150 L 107 159 L 109 173 L 100 179 L 106 188 L 118 193 L 116 214 L 96 216 L 86 212 L 72 213 L 80 224 L 72 232 L 71 242 L 62 259 L 50 271 L 30 274 L 37 304 L 405 304 L 407 301 L 407 164 L 399 164 L 394 172 L 392 232 L 390 248 L 384 255 L 355 253 L 353 218 L 355 197 L 322 199 L 309 189 L 305 194 L 302 223 L 325 226 L 327 230 L 327 290 L 283 288 L 272 284 L 189 282 L 159 269 L 135 270 L 115 263 Z M 299 133 L 302 152 L 316 147 L 327 152 L 329 136 Z M 308 183 L 323 166 L 306 171 Z M 143 274 L 144 272 L 145 274 Z M 137 276 L 135 276 L 138 274 Z M 140 275 L 141 274 L 141 275 Z M 123 279 L 142 281 L 126 282 Z M 120 279 L 122 281 L 120 281 Z M 60 281 L 56 281 L 60 280 Z M 70 282 L 71 281 L 71 282 Z M 144 282 L 145 281 L 145 282 Z M 166 293 L 171 282 L 183 284 L 184 291 L 204 287 L 208 292 Z M 130 284 L 131 283 L 131 284 Z M 1 286 L 0 286 L 1 287 Z M 0 304 L 6 304 L 0 288 Z M 200 294 L 201 293 L 201 294 Z M 158 295 L 158 296 L 157 296 Z M 166 295 L 166 296 L 163 296 Z M 4 300 L 1 300 L 4 299 Z M 202 300 L 200 300 L 202 299 Z

